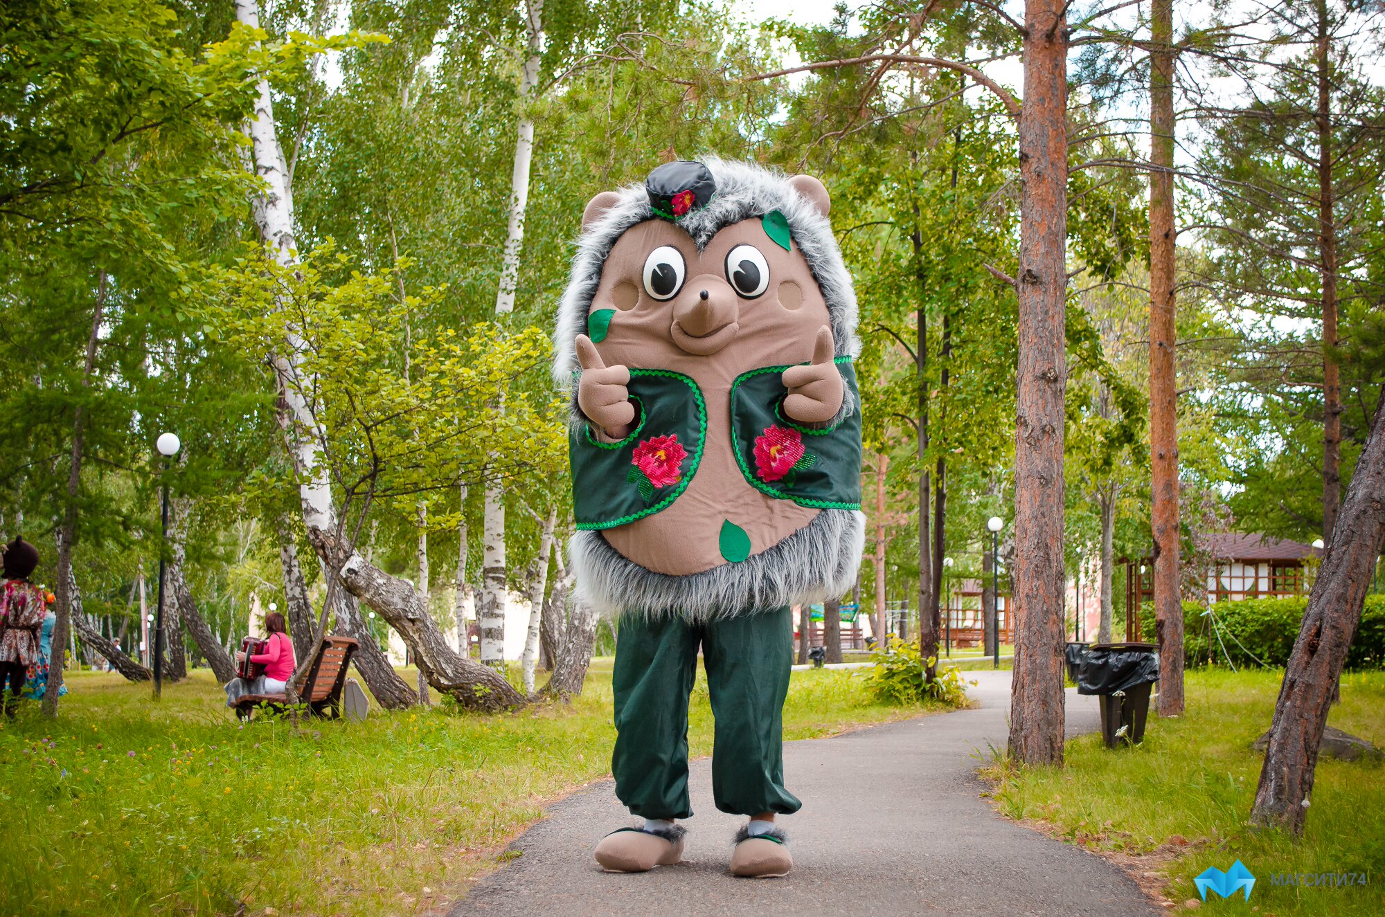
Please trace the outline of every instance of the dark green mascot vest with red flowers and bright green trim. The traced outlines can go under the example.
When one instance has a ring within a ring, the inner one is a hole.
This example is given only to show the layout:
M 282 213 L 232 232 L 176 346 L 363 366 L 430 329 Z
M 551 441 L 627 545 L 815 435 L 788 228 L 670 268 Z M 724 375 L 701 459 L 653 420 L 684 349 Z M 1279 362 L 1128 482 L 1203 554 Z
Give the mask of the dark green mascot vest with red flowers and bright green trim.
M 787 366 L 742 373 L 731 384 L 731 445 L 745 481 L 799 506 L 860 508 L 861 416 L 856 368 L 837 357 L 856 410 L 813 429 L 780 411 Z M 630 370 L 638 421 L 620 442 L 602 443 L 590 425 L 568 438 L 572 508 L 579 529 L 609 529 L 668 508 L 697 474 L 706 442 L 706 402 L 697 384 L 670 370 Z

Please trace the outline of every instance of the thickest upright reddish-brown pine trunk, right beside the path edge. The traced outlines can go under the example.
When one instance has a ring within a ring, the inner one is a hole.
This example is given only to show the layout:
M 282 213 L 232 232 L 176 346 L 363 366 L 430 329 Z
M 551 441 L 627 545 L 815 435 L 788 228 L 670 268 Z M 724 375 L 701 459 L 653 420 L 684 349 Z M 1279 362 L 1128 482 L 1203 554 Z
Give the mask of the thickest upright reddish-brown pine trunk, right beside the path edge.
M 1025 4 L 1019 119 L 1019 367 L 1015 425 L 1015 670 L 1010 754 L 1062 763 L 1064 395 L 1066 389 L 1066 4 Z

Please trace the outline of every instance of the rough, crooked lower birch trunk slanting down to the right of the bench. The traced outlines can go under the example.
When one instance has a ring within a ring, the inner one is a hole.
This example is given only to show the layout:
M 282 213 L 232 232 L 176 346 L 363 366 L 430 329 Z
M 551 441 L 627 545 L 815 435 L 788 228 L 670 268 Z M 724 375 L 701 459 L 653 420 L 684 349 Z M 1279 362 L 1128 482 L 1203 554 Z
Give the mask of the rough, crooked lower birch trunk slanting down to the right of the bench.
M 385 573 L 321 529 L 309 529 L 307 537 L 331 568 L 341 568 L 341 583 L 346 590 L 399 632 L 428 684 L 467 709 L 500 711 L 525 704 L 525 698 L 499 672 L 463 658 L 452 648 L 406 580 Z

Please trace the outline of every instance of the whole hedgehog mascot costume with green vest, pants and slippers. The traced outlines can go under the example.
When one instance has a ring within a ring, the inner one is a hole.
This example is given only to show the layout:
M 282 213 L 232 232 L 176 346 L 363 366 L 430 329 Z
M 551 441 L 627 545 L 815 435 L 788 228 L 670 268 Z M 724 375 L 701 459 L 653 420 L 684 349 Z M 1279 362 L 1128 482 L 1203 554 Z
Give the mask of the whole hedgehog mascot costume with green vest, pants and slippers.
M 856 295 L 823 183 L 719 159 L 669 162 L 582 215 L 554 374 L 572 388 L 578 533 L 590 607 L 620 616 L 615 792 L 638 827 L 607 870 L 677 863 L 688 694 L 701 648 L 716 808 L 741 814 L 735 875 L 792 867 L 776 814 L 792 607 L 856 580 Z

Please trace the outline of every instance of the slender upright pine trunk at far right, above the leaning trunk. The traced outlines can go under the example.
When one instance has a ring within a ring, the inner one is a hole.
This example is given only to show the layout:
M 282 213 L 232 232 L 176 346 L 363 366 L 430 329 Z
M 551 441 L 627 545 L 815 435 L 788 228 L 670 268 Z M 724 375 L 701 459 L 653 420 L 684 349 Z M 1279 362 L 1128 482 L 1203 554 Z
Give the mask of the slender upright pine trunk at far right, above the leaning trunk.
M 1342 488 L 1342 378 L 1337 366 L 1337 217 L 1327 0 L 1317 3 L 1317 213 L 1323 259 L 1323 542 L 1331 547 Z M 1159 687 L 1161 693 L 1163 687 Z

